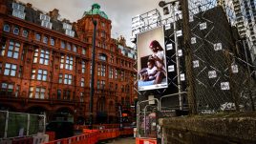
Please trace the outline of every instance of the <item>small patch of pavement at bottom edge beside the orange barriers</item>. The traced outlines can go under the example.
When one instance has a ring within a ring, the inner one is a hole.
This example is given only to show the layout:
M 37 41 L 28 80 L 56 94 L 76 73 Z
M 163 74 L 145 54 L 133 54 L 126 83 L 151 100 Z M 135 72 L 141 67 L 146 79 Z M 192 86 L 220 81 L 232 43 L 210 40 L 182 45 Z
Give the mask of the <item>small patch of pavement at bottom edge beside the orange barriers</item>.
M 99 144 L 135 144 L 136 139 L 134 137 L 118 137 L 110 139 L 108 141 L 99 142 Z

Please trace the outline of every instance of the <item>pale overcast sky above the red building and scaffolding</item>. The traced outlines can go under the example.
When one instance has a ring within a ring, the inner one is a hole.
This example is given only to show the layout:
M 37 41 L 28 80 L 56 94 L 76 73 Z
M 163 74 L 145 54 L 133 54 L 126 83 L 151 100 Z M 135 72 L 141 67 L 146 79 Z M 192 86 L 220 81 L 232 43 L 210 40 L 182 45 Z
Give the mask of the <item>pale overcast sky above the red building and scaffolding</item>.
M 20 0 L 31 3 L 36 9 L 43 11 L 59 10 L 61 18 L 75 22 L 80 19 L 85 10 L 91 10 L 94 3 L 98 3 L 100 10 L 105 11 L 112 21 L 112 37 L 123 35 L 129 46 L 132 35 L 132 17 L 149 10 L 160 9 L 160 0 Z

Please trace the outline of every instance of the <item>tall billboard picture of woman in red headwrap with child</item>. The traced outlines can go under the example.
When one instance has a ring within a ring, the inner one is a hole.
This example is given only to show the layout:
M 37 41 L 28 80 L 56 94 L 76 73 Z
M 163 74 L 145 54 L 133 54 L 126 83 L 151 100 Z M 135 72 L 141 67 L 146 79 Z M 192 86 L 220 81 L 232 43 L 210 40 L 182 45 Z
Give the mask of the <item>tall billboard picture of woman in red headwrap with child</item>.
M 139 91 L 167 88 L 163 27 L 137 36 Z

